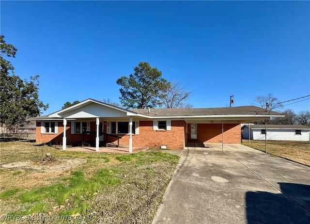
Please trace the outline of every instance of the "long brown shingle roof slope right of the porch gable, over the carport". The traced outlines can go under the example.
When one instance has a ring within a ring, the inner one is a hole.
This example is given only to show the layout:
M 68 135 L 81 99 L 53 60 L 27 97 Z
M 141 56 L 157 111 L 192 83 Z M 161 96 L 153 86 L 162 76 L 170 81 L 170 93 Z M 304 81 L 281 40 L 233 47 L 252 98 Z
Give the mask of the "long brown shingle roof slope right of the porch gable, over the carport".
M 129 109 L 132 112 L 146 116 L 203 116 L 203 115 L 281 115 L 278 112 L 266 112 L 265 109 L 255 106 L 222 107 L 222 108 L 155 108 Z

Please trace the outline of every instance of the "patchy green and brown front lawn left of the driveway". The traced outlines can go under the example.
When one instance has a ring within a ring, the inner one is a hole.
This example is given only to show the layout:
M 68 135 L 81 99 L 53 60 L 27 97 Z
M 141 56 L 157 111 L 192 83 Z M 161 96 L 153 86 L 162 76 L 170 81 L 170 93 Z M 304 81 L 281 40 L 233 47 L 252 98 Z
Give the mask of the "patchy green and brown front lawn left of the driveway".
M 151 223 L 179 160 L 161 152 L 85 153 L 31 142 L 0 147 L 1 223 Z M 34 161 L 42 152 L 58 160 Z M 68 167 L 68 158 L 77 165 Z M 28 165 L 13 167 L 20 163 Z

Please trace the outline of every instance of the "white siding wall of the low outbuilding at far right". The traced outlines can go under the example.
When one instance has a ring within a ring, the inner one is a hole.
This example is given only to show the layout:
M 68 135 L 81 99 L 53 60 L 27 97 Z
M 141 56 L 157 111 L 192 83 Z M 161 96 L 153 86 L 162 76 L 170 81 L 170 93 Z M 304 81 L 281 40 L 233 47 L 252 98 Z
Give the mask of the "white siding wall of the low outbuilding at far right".
M 261 129 L 251 129 L 251 132 L 254 140 L 265 140 Z M 295 129 L 267 129 L 267 140 L 309 141 L 309 134 L 310 130 L 301 130 L 301 135 L 295 135 Z

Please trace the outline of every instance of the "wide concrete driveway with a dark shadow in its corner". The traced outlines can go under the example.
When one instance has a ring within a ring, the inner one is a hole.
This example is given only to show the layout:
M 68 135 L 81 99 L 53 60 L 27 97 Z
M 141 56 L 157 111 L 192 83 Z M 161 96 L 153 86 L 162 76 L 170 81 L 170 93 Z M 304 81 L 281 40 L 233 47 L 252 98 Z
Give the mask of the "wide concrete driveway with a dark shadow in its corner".
M 153 224 L 310 224 L 310 167 L 240 144 L 187 148 Z

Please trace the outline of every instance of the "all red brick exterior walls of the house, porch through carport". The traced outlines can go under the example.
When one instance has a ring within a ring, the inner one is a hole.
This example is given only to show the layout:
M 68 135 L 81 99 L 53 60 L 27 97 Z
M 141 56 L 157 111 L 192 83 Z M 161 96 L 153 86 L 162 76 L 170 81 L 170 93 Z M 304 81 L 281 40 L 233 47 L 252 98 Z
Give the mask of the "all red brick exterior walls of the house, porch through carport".
M 153 121 L 140 121 L 140 134 L 132 135 L 133 146 L 145 146 L 159 148 L 160 145 L 167 145 L 168 148 L 183 149 L 187 140 L 190 139 L 190 124 L 187 124 L 188 134 L 186 134 L 186 122 L 171 121 L 170 131 L 153 130 Z M 91 131 L 96 130 L 95 122 L 91 122 Z M 222 141 L 221 124 L 198 124 L 197 125 L 198 141 L 208 143 L 220 143 Z M 104 125 L 106 131 L 106 125 Z M 63 123 L 58 122 L 58 134 L 41 134 L 41 122 L 36 125 L 36 142 L 62 144 Z M 66 126 L 67 144 L 80 144 L 83 134 L 71 134 L 71 122 Z M 120 144 L 129 145 L 129 134 L 122 135 Z M 85 134 L 84 141 L 95 142 L 95 134 Z M 106 137 L 105 137 L 106 138 Z M 106 140 L 106 139 L 105 139 Z M 109 142 L 117 144 L 117 139 L 109 137 Z M 240 124 L 224 124 L 224 143 L 240 144 L 241 143 L 241 126 Z

